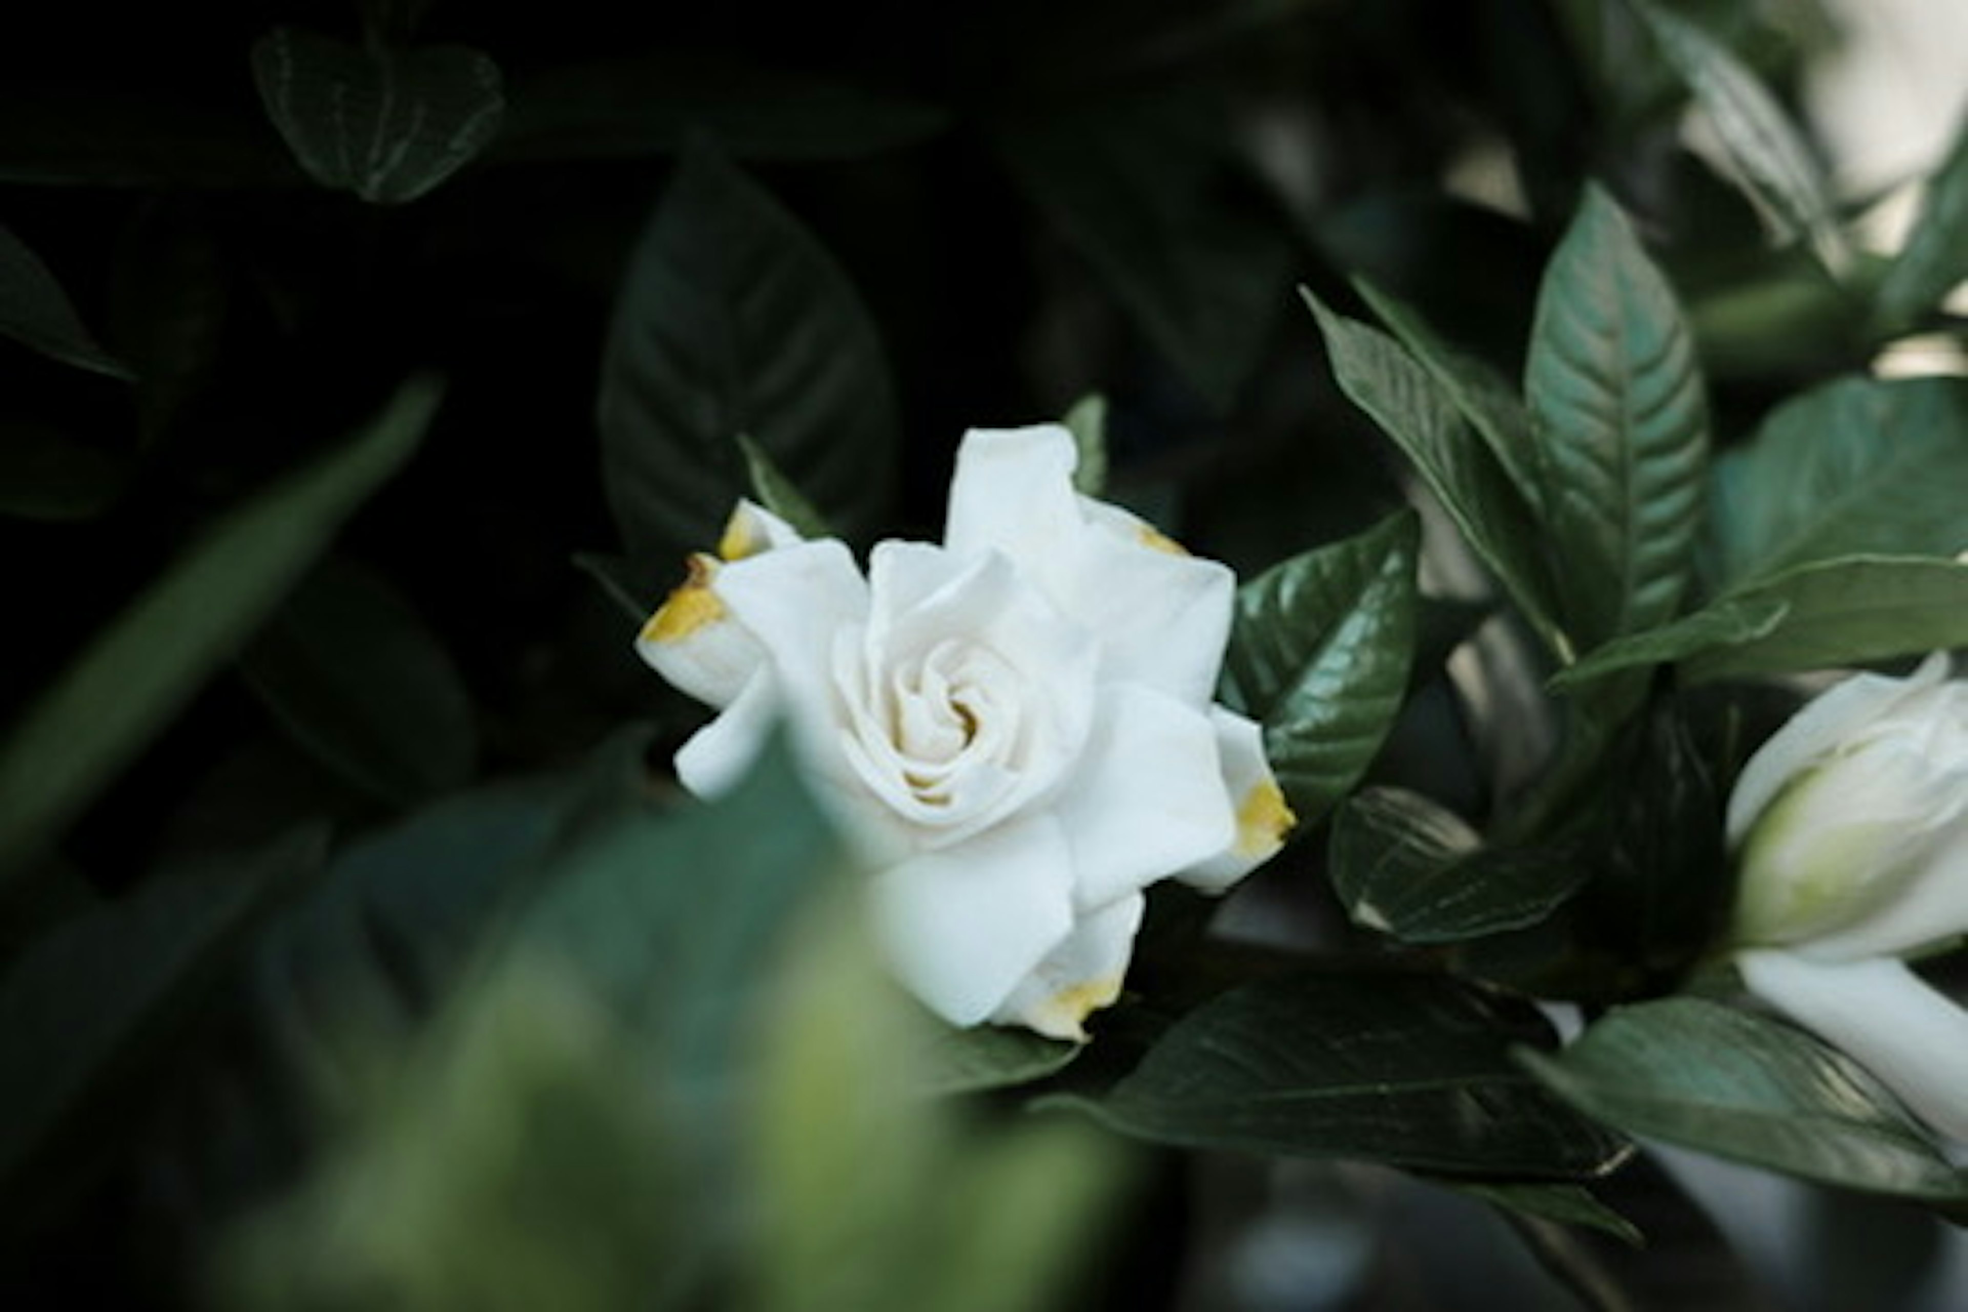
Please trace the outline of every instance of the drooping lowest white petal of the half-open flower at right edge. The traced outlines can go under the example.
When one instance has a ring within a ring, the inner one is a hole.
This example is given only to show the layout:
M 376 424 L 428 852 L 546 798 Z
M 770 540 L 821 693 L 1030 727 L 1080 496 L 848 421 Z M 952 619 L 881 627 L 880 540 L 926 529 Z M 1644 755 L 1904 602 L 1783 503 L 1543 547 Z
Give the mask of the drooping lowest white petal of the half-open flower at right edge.
M 1915 1115 L 1968 1143 L 1968 1013 L 1905 962 L 1814 962 L 1795 952 L 1740 952 L 1744 984 L 1840 1048 Z

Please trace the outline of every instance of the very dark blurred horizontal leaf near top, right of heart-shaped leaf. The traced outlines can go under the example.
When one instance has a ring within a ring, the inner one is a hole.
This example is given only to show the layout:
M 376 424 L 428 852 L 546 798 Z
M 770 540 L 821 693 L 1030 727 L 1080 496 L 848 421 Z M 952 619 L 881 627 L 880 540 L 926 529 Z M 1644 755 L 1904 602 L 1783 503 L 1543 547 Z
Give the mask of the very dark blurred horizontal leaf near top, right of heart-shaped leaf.
M 707 132 L 740 159 L 838 159 L 941 132 L 933 104 L 708 51 L 545 69 L 510 90 L 494 159 L 675 153 Z

